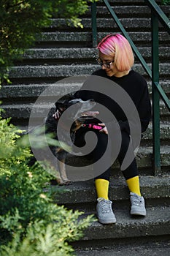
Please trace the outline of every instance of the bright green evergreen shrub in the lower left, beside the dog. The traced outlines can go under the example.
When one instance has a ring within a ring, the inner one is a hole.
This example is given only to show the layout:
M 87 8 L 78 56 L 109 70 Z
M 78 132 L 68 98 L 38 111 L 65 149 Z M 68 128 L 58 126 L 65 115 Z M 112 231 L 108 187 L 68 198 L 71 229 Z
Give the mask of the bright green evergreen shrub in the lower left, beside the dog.
M 83 235 L 93 217 L 78 221 L 79 211 L 53 203 L 51 178 L 41 165 L 29 167 L 29 148 L 18 143 L 20 131 L 0 118 L 0 255 L 70 255 L 69 241 Z

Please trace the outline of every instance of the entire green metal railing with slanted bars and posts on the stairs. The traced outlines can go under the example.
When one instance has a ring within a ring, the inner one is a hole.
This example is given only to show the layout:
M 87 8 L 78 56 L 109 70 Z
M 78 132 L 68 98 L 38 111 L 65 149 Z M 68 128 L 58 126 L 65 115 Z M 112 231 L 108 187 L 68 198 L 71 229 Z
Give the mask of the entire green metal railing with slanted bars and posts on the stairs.
M 144 61 L 141 53 L 134 45 L 134 42 L 125 31 L 122 23 L 117 18 L 114 10 L 110 6 L 107 0 L 103 0 L 104 4 L 115 20 L 115 23 L 119 27 L 123 36 L 128 39 L 131 44 L 131 48 L 134 50 L 136 57 L 139 59 L 142 67 L 147 72 L 152 80 L 152 145 L 153 145 L 153 168 L 155 175 L 161 173 L 161 154 L 160 154 L 160 97 L 165 103 L 166 107 L 170 111 L 170 100 L 163 91 L 159 83 L 159 39 L 158 39 L 158 21 L 161 22 L 162 26 L 170 34 L 170 20 L 156 4 L 154 0 L 144 0 L 151 10 L 151 30 L 152 30 L 152 70 Z M 93 31 L 93 47 L 97 46 L 97 26 L 96 26 L 96 2 L 92 4 L 92 31 Z

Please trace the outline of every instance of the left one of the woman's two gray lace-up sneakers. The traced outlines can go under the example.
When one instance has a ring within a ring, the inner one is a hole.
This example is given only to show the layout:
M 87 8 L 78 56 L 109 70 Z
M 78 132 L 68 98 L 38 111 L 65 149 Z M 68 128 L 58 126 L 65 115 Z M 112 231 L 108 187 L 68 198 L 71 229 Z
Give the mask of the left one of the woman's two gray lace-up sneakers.
M 101 224 L 111 224 L 116 222 L 115 214 L 112 211 L 112 201 L 102 197 L 98 198 L 96 206 L 98 222 Z

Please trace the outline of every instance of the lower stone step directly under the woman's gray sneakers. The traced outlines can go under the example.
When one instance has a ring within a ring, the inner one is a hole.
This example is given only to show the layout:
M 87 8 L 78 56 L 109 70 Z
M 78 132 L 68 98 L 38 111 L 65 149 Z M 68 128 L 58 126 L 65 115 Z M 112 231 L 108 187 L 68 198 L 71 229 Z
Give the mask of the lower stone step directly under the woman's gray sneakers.
M 114 206 L 113 206 L 114 207 Z M 101 245 L 107 242 L 116 244 L 117 239 L 135 239 L 147 238 L 147 241 L 156 236 L 170 235 L 170 208 L 169 206 L 152 206 L 147 207 L 147 217 L 131 217 L 129 208 L 115 209 L 117 222 L 112 225 L 101 225 L 93 222 L 90 227 L 85 230 L 84 237 L 77 241 L 79 248 L 83 246 L 93 247 L 95 244 Z

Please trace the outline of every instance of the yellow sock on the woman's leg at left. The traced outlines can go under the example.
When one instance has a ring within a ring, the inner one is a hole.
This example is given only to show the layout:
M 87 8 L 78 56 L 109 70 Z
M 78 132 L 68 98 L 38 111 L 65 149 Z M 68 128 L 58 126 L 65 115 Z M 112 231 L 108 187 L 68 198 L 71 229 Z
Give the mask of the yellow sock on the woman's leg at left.
M 96 185 L 96 192 L 98 197 L 103 197 L 104 199 L 108 198 L 108 192 L 109 192 L 109 181 L 102 178 L 97 178 L 95 180 Z

